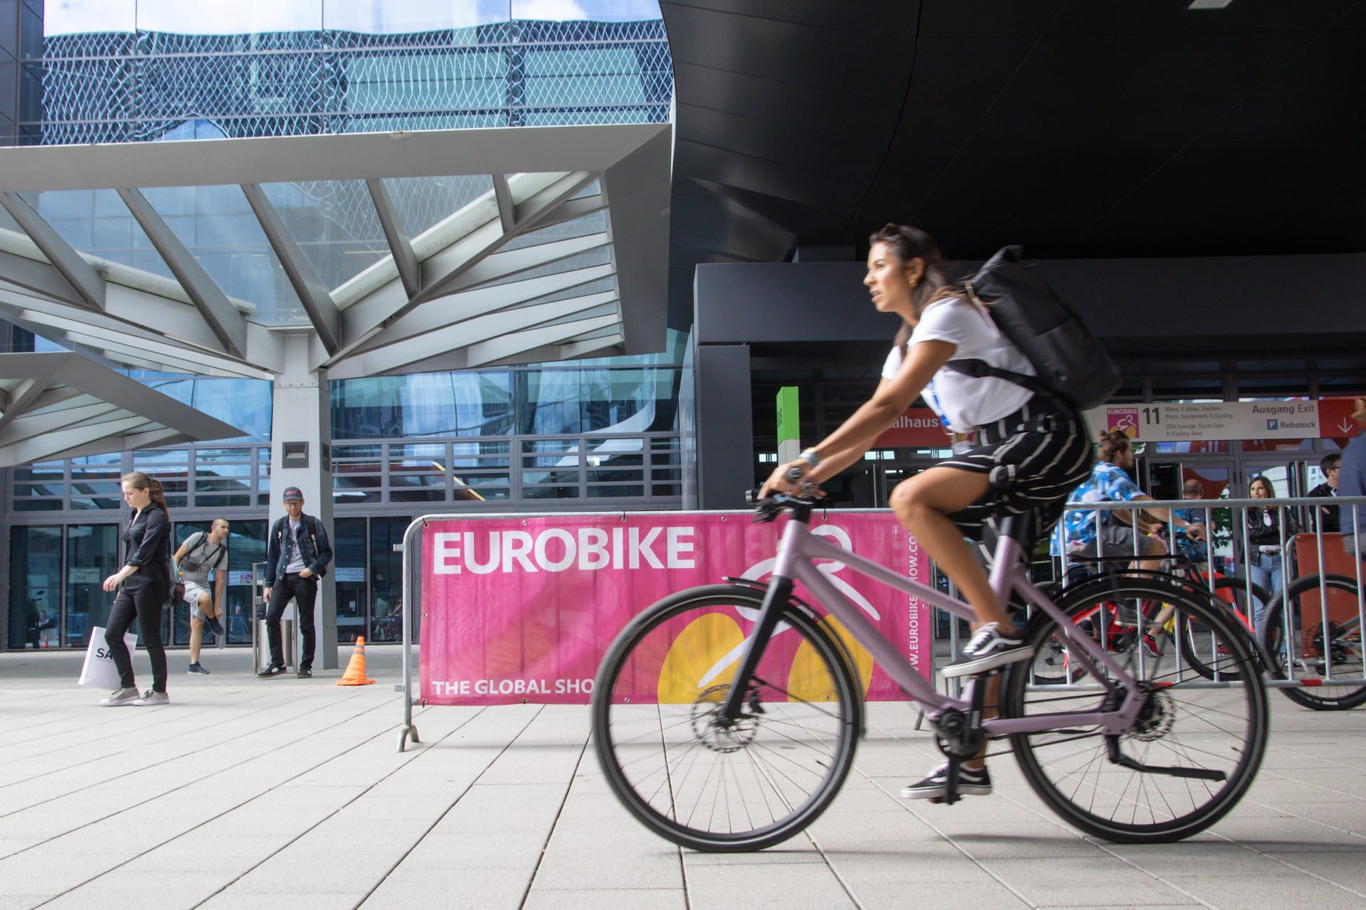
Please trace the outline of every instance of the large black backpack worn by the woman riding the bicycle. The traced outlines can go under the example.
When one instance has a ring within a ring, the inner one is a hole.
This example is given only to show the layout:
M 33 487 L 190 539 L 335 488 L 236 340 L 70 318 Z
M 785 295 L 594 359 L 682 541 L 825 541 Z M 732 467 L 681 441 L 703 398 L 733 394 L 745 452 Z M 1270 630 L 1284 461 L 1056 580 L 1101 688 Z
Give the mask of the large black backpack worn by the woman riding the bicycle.
M 985 360 L 949 360 L 970 377 L 994 377 L 1070 404 L 1098 408 L 1119 389 L 1115 362 L 1081 317 L 1026 265 L 1022 247 L 1005 247 L 964 282 L 974 304 L 1034 366 L 1037 377 L 993 367 Z M 984 302 L 988 306 L 982 306 Z

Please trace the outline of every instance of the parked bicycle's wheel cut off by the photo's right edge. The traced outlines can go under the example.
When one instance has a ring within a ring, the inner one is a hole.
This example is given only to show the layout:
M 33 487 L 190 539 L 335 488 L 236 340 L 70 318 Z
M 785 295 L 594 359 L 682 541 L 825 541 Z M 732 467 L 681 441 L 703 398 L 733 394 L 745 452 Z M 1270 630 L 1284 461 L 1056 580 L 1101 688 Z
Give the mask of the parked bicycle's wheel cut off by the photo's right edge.
M 1358 596 L 1356 578 L 1333 574 L 1322 576 L 1322 578 L 1328 588 L 1343 591 L 1350 593 L 1352 598 Z M 1296 578 L 1285 591 L 1285 596 L 1279 598 L 1276 603 L 1266 608 L 1266 617 L 1262 622 L 1261 630 L 1258 632 L 1258 643 L 1266 654 L 1268 673 L 1273 679 L 1290 678 L 1290 660 L 1295 660 L 1299 664 L 1296 667 L 1298 671 L 1295 677 L 1298 679 L 1320 682 L 1326 678 L 1325 671 L 1330 671 L 1332 675 L 1337 678 L 1366 678 L 1366 666 L 1363 666 L 1363 659 L 1366 658 L 1363 658 L 1361 623 L 1355 621 L 1354 629 L 1346 629 L 1341 634 L 1333 636 L 1332 630 L 1329 632 L 1330 644 L 1326 648 L 1328 660 L 1324 660 L 1325 648 L 1322 647 L 1322 643 L 1320 643 L 1320 647 L 1317 648 L 1313 643 L 1315 625 L 1318 626 L 1317 636 L 1320 640 L 1322 639 L 1322 622 L 1311 622 L 1307 630 L 1311 637 L 1310 651 L 1317 651 L 1317 656 L 1311 656 L 1305 652 L 1303 641 L 1300 641 L 1299 648 L 1295 647 L 1295 640 L 1303 634 L 1298 629 L 1296 634 L 1291 636 L 1291 645 L 1287 652 L 1287 610 L 1290 610 L 1290 615 L 1292 617 L 1300 615 L 1300 599 L 1309 592 L 1317 592 L 1318 585 L 1320 576 L 1305 576 L 1303 578 Z M 1294 622 L 1291 623 L 1291 628 L 1295 628 Z M 1299 651 L 1299 656 L 1296 656 L 1296 651 Z M 1366 685 L 1359 688 L 1340 685 L 1288 686 L 1281 688 L 1281 692 L 1284 692 L 1285 697 L 1295 704 L 1314 711 L 1348 711 L 1366 703 Z

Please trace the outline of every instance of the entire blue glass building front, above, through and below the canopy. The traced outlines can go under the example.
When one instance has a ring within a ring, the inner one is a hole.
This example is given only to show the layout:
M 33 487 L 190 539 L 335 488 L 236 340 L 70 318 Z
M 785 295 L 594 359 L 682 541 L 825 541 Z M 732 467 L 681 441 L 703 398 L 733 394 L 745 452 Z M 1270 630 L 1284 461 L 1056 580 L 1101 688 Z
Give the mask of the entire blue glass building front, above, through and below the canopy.
M 48 3 L 42 18 L 22 15 L 25 145 L 669 120 L 672 67 L 656 0 L 63 0 Z M 339 303 L 389 255 L 363 181 L 261 188 Z M 384 188 L 418 243 L 492 192 L 493 181 L 384 179 Z M 579 195 L 597 192 L 594 183 Z M 240 187 L 143 195 L 249 319 L 306 322 Z M 109 281 L 172 278 L 117 192 L 23 199 Z M 0 228 L 18 231 L 3 211 Z M 508 248 L 605 229 L 605 216 L 594 213 L 527 232 Z M 593 248 L 516 277 L 609 259 L 607 248 Z M 534 303 L 615 289 L 612 278 L 598 285 Z M 10 338 L 18 349 L 55 347 L 20 334 Z M 550 501 L 676 508 L 683 340 L 671 333 L 669 342 L 660 356 L 333 382 L 339 640 L 399 637 L 402 557 L 392 547 L 414 514 L 540 509 Z M 272 499 L 270 383 L 128 374 L 243 437 L 5 472 L 10 648 L 83 647 L 89 629 L 102 623 L 111 596 L 100 581 L 119 565 L 127 518 L 119 478 L 134 469 L 165 486 L 178 543 L 213 517 L 229 520 L 227 643 L 250 641 L 250 570 L 265 555 Z M 167 611 L 169 644 L 189 641 L 189 618 L 183 603 Z M 205 644 L 217 643 L 206 634 Z

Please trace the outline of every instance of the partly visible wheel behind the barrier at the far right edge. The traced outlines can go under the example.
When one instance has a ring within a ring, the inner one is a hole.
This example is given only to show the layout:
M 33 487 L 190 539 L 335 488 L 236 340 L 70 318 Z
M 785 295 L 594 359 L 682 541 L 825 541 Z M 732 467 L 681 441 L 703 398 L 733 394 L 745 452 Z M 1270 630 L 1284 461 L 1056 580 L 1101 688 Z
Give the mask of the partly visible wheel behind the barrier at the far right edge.
M 1322 583 L 1330 600 L 1336 595 L 1361 603 L 1355 578 L 1322 576 Z M 1270 660 L 1272 678 L 1288 679 L 1288 670 L 1294 666 L 1295 678 L 1310 684 L 1281 689 L 1287 699 L 1314 711 L 1347 711 L 1366 703 L 1366 684 L 1324 684 L 1330 679 L 1366 679 L 1361 618 L 1359 614 L 1344 615 L 1343 622 L 1335 622 L 1332 615 L 1324 615 L 1318 595 L 1320 576 L 1295 580 L 1285 596 L 1268 607 L 1259 641 Z

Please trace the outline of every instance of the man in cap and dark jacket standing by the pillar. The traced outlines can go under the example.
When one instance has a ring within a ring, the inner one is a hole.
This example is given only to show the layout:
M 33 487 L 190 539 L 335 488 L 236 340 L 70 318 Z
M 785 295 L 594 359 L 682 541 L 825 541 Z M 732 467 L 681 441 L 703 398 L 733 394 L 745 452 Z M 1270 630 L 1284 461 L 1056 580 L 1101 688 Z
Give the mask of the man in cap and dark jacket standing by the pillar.
M 326 529 L 313 516 L 303 514 L 303 493 L 298 487 L 284 488 L 285 516 L 275 523 L 266 539 L 265 611 L 266 634 L 270 639 L 270 663 L 258 677 L 277 677 L 284 673 L 284 647 L 280 641 L 280 617 L 292 599 L 303 636 L 303 656 L 299 658 L 299 678 L 313 675 L 313 649 L 317 630 L 313 625 L 313 606 L 318 599 L 318 578 L 332 562 L 332 544 Z

